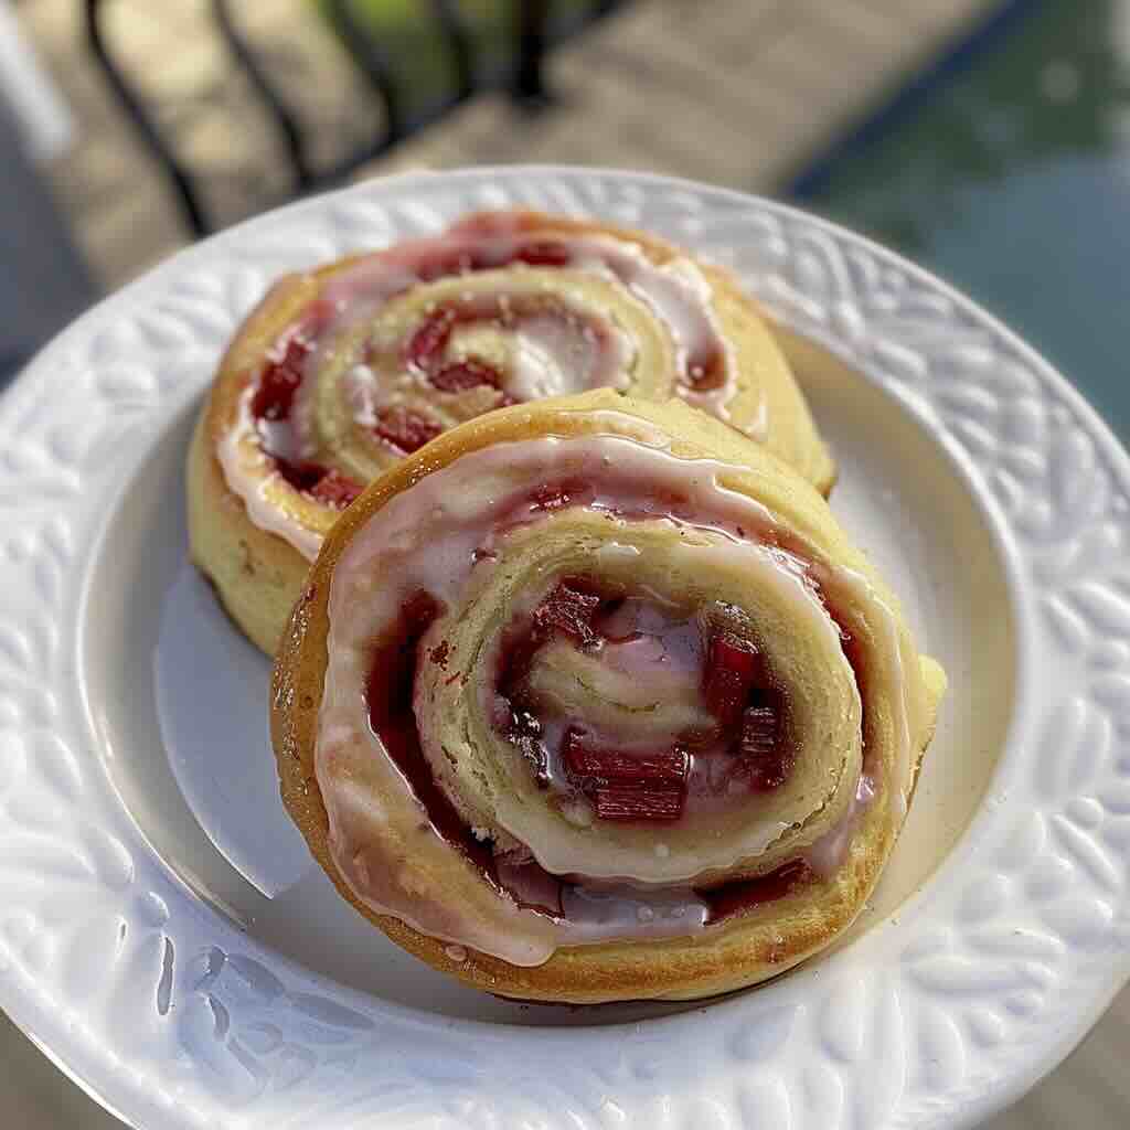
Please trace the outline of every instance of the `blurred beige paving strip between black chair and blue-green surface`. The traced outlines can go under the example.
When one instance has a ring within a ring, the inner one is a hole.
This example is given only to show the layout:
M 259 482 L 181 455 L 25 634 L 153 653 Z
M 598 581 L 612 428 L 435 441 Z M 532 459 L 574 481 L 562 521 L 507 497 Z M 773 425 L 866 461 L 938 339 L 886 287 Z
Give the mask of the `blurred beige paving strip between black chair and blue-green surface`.
M 536 123 L 497 101 L 360 176 L 570 160 L 772 193 L 983 9 L 974 0 L 640 3 L 558 52 L 560 106 Z

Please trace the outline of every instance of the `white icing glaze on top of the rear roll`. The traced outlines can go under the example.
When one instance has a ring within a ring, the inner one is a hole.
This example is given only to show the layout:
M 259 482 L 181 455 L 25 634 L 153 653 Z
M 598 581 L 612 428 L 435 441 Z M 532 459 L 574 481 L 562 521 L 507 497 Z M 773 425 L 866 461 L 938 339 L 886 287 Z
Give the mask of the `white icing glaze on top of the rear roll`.
M 487 217 L 489 224 L 477 228 L 481 218 L 429 240 L 403 243 L 362 260 L 357 266 L 332 277 L 322 299 L 336 311 L 336 319 L 321 332 L 303 360 L 304 380 L 295 391 L 290 418 L 272 426 L 271 450 L 296 460 L 316 455 L 313 420 L 316 382 L 311 380 L 334 348 L 336 330 L 372 316 L 391 298 L 426 282 L 428 263 L 472 258 L 484 264 L 508 266 L 523 245 L 537 242 L 539 233 L 522 232 L 505 217 Z M 727 409 L 737 389 L 737 363 L 733 349 L 722 333 L 712 303 L 712 289 L 703 272 L 689 259 L 676 259 L 655 266 L 637 245 L 607 235 L 571 235 L 551 231 L 550 238 L 568 253 L 566 266 L 611 278 L 643 302 L 667 325 L 676 344 L 677 356 L 687 380 L 677 381 L 675 394 L 705 411 L 733 423 Z M 521 269 L 518 264 L 516 269 Z M 591 328 L 563 327 L 551 318 L 519 320 L 515 327 L 514 363 L 505 374 L 505 391 L 518 399 L 540 399 L 608 385 L 627 388 L 634 347 L 628 336 L 615 325 L 601 342 L 593 340 Z M 585 332 L 588 331 L 588 332 Z M 716 351 L 723 359 L 723 379 L 718 388 L 694 386 L 693 358 Z M 567 363 L 566 363 L 567 360 Z M 362 428 L 376 425 L 376 410 L 403 399 L 406 389 L 418 386 L 418 373 L 400 377 L 403 388 L 385 388 L 366 366 L 356 366 L 346 375 L 347 395 L 354 419 Z M 260 446 L 257 421 L 250 412 L 251 393 L 241 398 L 233 427 L 219 441 L 217 458 L 231 489 L 247 506 L 252 523 L 278 534 L 303 556 L 313 559 L 322 534 L 305 525 L 294 513 L 279 506 L 263 490 L 264 471 L 270 460 L 252 450 Z M 742 426 L 748 435 L 764 441 L 768 434 L 764 397 L 755 416 Z

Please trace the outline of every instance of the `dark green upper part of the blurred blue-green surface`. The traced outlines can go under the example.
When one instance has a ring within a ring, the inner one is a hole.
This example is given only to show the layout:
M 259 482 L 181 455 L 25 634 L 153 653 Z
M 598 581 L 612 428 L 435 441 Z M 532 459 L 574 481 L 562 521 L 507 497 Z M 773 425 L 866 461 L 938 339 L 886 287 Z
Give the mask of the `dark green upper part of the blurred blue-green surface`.
M 1003 44 L 944 79 L 806 202 L 911 255 L 960 221 L 968 190 L 1075 155 L 1124 160 L 1130 2 L 1033 6 Z

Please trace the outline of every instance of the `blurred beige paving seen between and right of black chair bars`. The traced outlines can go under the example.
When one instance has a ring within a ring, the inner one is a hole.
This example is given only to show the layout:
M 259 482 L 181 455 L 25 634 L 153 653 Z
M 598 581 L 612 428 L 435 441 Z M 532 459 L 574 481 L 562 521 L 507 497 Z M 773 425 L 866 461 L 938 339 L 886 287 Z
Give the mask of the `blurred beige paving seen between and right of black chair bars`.
M 637 0 L 556 53 L 556 108 L 530 121 L 485 97 L 362 175 L 425 165 L 573 162 L 772 192 L 957 34 L 985 0 Z M 80 140 L 51 169 L 107 288 L 186 242 L 175 199 L 86 52 L 73 0 L 20 14 L 75 107 Z M 210 26 L 207 0 L 107 7 L 107 40 L 206 172 L 229 223 L 287 192 L 279 139 Z M 323 165 L 375 137 L 381 108 L 310 0 L 236 6 Z

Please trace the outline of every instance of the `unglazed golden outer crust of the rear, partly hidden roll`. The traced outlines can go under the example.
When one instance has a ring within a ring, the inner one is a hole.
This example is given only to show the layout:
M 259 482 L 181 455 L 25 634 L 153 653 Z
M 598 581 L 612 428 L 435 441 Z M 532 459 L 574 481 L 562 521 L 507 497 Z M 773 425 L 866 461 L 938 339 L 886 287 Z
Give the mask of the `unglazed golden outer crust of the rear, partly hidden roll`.
M 687 252 L 662 240 L 614 225 L 534 211 L 507 212 L 506 217 L 519 227 L 612 235 L 631 241 L 658 264 L 687 257 Z M 464 223 L 473 223 L 473 219 L 470 217 Z M 319 296 L 330 278 L 355 266 L 360 258 L 341 259 L 307 275 L 287 276 L 278 281 L 225 354 L 193 440 L 188 467 L 192 558 L 212 581 L 236 624 L 270 655 L 275 654 L 308 563 L 280 536 L 254 524 L 244 502 L 228 488 L 216 449 L 235 426 L 240 398 L 259 372 L 264 353 Z M 744 364 L 758 371 L 756 379 L 771 420 L 767 446 L 827 494 L 835 480 L 834 464 L 816 433 L 784 356 L 765 324 L 764 312 L 728 271 L 711 264 L 699 266 L 714 287 L 715 308 L 724 331 L 731 338 L 742 339 Z M 754 374 L 747 375 L 754 379 Z M 296 507 L 320 529 L 329 529 L 336 516 L 302 499 Z

